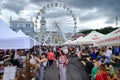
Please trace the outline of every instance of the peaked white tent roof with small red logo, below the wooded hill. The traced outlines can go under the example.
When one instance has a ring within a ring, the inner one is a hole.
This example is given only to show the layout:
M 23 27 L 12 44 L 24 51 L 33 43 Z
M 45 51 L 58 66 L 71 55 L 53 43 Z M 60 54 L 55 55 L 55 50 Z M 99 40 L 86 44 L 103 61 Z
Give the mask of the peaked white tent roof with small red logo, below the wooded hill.
M 99 33 L 99 32 L 96 32 L 96 31 L 92 31 L 87 36 L 82 38 L 79 41 L 79 43 L 80 44 L 94 44 L 97 40 L 99 40 L 103 36 L 105 36 L 105 35 L 102 34 L 102 33 Z

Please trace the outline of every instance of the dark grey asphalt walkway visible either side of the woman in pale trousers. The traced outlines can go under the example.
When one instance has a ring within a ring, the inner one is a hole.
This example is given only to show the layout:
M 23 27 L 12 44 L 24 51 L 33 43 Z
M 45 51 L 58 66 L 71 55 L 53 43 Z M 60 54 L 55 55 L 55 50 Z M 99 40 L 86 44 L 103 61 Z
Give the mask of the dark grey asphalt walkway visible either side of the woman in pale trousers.
M 69 58 L 67 65 L 67 80 L 89 80 L 85 69 L 78 58 Z M 45 80 L 58 80 L 58 71 L 55 63 L 52 67 L 47 68 L 45 72 Z

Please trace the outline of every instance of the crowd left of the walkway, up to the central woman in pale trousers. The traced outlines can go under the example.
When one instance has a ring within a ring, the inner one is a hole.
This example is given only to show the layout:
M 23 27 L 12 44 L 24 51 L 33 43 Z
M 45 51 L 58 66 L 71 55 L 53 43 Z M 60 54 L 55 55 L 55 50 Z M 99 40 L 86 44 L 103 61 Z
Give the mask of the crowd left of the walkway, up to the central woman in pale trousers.
M 35 46 L 30 50 L 0 50 L 0 59 L 4 61 L 2 66 L 17 66 L 17 80 L 44 80 L 45 69 L 52 68 L 54 61 L 59 71 L 59 79 L 66 80 L 68 59 L 59 46 Z

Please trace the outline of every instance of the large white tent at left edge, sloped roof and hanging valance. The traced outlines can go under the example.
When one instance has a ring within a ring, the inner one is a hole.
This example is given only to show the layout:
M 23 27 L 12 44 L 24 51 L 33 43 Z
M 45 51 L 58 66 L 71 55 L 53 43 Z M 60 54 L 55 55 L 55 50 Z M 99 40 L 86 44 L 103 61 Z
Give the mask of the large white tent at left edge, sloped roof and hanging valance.
M 18 36 L 0 19 L 0 49 L 29 49 L 33 46 L 30 37 Z

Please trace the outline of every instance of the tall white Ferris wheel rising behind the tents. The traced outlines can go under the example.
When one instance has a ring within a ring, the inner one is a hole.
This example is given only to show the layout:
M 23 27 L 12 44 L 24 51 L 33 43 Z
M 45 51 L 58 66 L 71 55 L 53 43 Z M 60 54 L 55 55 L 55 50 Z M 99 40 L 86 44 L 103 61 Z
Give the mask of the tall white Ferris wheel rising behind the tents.
M 63 3 L 50 3 L 41 8 L 35 19 L 36 28 L 41 28 L 41 19 L 46 21 L 45 30 L 49 31 L 49 35 L 44 41 L 47 41 L 48 37 L 51 35 L 51 32 L 60 31 L 60 34 L 64 39 L 70 39 L 76 32 L 76 17 L 73 11 Z M 71 34 L 66 36 L 67 33 Z

